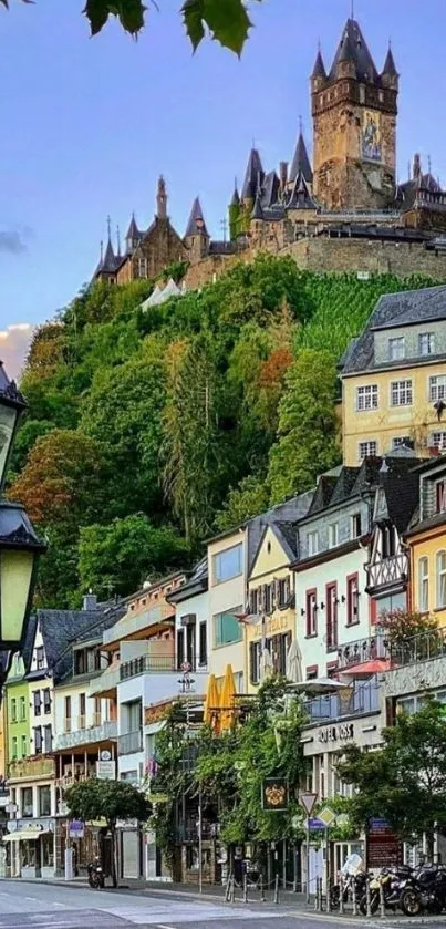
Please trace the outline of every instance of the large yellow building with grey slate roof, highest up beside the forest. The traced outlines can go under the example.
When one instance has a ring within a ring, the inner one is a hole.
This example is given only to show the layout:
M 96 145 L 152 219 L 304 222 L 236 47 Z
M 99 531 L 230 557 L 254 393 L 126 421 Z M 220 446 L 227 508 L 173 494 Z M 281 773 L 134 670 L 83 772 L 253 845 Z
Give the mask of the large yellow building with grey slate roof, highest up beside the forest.
M 345 465 L 446 447 L 446 287 L 381 297 L 340 369 Z

